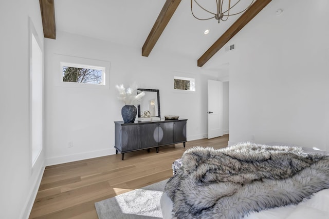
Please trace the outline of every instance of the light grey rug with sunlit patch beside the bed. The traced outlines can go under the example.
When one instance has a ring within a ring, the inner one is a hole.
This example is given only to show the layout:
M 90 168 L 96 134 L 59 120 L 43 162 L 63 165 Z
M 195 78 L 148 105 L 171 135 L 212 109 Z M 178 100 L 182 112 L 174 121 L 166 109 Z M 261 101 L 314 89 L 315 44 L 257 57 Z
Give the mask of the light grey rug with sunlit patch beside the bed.
M 162 218 L 160 197 L 168 180 L 95 203 L 99 219 Z

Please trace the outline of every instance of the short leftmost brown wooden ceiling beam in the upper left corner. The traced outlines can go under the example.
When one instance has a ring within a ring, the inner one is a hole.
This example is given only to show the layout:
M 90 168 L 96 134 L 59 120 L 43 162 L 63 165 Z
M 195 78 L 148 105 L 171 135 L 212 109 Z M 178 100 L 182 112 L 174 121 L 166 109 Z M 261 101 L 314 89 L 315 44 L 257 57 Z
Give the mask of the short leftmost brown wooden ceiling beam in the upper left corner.
M 39 0 L 43 35 L 46 38 L 56 39 L 56 25 L 55 25 L 55 7 L 54 0 Z

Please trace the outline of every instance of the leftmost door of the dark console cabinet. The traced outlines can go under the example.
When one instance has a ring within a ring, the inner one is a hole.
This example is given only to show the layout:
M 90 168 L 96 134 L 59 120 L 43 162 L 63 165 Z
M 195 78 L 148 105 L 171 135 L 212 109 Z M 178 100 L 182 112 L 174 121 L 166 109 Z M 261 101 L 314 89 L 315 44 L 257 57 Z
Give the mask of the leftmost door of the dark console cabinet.
M 140 125 L 122 126 L 120 140 L 122 152 L 140 149 Z

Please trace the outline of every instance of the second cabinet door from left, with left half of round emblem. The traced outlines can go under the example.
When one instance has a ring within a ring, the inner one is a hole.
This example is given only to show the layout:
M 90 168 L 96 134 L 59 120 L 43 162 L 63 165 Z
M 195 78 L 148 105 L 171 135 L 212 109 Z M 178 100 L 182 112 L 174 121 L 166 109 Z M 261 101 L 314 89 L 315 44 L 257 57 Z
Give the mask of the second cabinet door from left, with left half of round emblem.
M 141 125 L 141 147 L 149 148 L 158 146 L 158 124 Z

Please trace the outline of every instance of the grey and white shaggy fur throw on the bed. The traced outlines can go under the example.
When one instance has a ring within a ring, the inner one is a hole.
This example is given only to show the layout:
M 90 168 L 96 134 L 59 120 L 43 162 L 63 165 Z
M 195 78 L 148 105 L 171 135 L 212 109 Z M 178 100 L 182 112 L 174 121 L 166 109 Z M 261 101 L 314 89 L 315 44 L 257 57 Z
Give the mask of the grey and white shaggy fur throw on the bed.
M 243 218 L 329 188 L 329 156 L 297 147 L 195 147 L 183 154 L 182 164 L 165 187 L 173 218 Z

